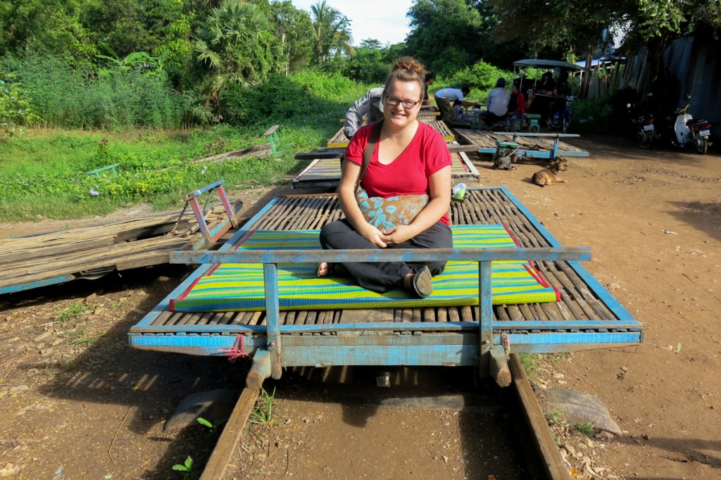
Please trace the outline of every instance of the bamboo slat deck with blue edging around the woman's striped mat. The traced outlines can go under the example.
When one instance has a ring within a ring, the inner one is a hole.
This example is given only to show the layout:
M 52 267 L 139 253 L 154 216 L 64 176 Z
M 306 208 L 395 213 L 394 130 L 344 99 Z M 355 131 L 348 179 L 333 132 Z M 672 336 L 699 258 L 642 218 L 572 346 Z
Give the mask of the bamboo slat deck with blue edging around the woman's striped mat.
M 341 216 L 337 197 L 333 194 L 278 197 L 250 219 L 234 239 L 239 238 L 243 231 L 250 229 L 320 228 Z M 451 206 L 451 221 L 458 224 L 505 223 L 520 246 L 560 246 L 505 187 L 469 190 L 463 203 Z M 234 239 L 231 239 L 221 250 L 231 249 Z M 264 311 L 192 314 L 169 311 L 169 299 L 180 295 L 190 283 L 210 267 L 212 266 L 199 267 L 156 306 L 151 314 L 133 326 L 129 333 L 133 347 L 192 355 L 220 355 L 218 350 L 231 347 L 237 334 L 246 335 L 245 347 L 249 350 L 265 347 Z M 514 351 L 574 351 L 634 345 L 640 342 L 642 328 L 639 322 L 634 320 L 578 262 L 536 262 L 536 267 L 549 283 L 559 290 L 561 299 L 557 303 L 493 307 L 493 334 L 509 334 L 512 337 Z M 280 332 L 290 335 L 283 337 L 286 338 L 283 341 L 286 347 L 325 345 L 331 348 L 331 345 L 345 345 L 362 348 L 363 345 L 367 345 L 370 348 L 371 345 L 383 342 L 377 337 L 373 339 L 373 336 L 410 335 L 404 337 L 405 340 L 400 337 L 393 342 L 407 342 L 407 345 L 406 343 L 403 345 L 412 350 L 413 347 L 422 345 L 428 347 L 430 344 L 426 342 L 431 342 L 428 337 L 430 332 L 433 334 L 446 332 L 460 337 L 443 337 L 443 342 L 450 341 L 463 349 L 475 345 L 477 349 L 478 321 L 479 308 L 473 306 L 281 311 Z M 384 325 L 388 327 L 384 329 Z M 292 334 L 297 334 L 299 337 L 293 337 Z M 302 340 L 306 335 L 311 336 L 311 340 Z M 327 335 L 331 336 L 330 339 L 325 337 Z M 290 344 L 288 338 L 291 339 Z M 293 338 L 297 340 L 292 340 Z M 500 337 L 494 337 L 494 343 L 496 339 L 500 342 Z M 298 353 L 298 355 L 306 354 Z M 311 355 L 311 352 L 307 355 Z M 432 360 L 414 361 L 417 361 L 417 364 L 430 365 L 433 363 L 424 362 Z M 471 362 L 465 357 L 464 360 L 458 361 L 462 363 L 466 360 Z M 298 362 L 302 361 L 305 360 L 298 360 Z M 366 360 L 356 358 L 354 361 Z M 314 364 L 316 363 L 309 363 L 309 365 Z M 410 364 L 403 363 L 403 365 Z M 303 363 L 293 363 L 293 365 L 303 365 Z

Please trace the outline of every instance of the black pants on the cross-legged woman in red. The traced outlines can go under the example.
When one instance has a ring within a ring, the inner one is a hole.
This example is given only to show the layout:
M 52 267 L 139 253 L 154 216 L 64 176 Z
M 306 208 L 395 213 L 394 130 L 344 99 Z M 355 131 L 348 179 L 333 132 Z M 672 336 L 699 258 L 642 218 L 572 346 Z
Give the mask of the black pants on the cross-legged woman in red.
M 327 223 L 321 228 L 320 244 L 327 250 L 379 248 L 358 234 L 345 218 Z M 451 228 L 444 223 L 436 222 L 412 239 L 388 248 L 449 249 L 453 248 L 453 235 Z M 347 262 L 343 267 L 348 270 L 351 277 L 355 278 L 359 286 L 372 292 L 384 293 L 397 288 L 404 275 L 423 265 L 428 265 L 431 275 L 440 275 L 446 268 L 446 262 Z

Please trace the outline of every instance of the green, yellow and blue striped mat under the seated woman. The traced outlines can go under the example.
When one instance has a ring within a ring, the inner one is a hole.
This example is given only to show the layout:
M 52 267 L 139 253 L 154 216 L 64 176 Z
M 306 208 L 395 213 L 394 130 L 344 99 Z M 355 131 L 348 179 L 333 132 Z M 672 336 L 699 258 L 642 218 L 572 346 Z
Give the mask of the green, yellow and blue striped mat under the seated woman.
M 454 247 L 513 247 L 503 225 L 454 225 Z M 249 231 L 236 250 L 319 249 L 318 230 Z M 412 298 L 404 290 L 383 294 L 358 287 L 348 277 L 315 276 L 316 265 L 280 264 L 278 283 L 281 310 L 340 308 L 403 308 L 478 305 L 477 262 L 448 262 L 433 277 L 433 294 Z M 529 263 L 492 262 L 493 303 L 531 303 L 558 300 L 557 290 Z M 217 265 L 170 301 L 172 311 L 260 311 L 265 309 L 262 265 Z

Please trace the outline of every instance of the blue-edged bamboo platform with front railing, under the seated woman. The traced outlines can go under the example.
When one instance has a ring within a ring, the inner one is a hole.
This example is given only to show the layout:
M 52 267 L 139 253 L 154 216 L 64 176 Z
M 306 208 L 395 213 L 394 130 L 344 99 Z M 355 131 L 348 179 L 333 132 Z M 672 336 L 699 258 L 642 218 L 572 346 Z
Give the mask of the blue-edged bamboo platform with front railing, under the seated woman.
M 492 306 L 490 261 L 484 257 L 479 261 L 478 306 L 278 311 L 273 262 L 380 261 L 358 259 L 394 252 L 261 250 L 242 261 L 264 264 L 265 310 L 182 313 L 169 308 L 172 298 L 213 268 L 212 262 L 241 261 L 234 246 L 247 232 L 317 229 L 341 216 L 333 194 L 276 197 L 217 252 L 174 253 L 173 262 L 202 265 L 130 329 L 131 346 L 188 355 L 242 350 L 255 355 L 251 371 L 261 369 L 256 380 L 262 383 L 268 375 L 280 378 L 282 368 L 291 366 L 479 365 L 485 376 L 503 364 L 503 345 L 506 354 L 571 352 L 632 346 L 642 340 L 640 322 L 576 261 L 590 258 L 585 249 L 563 248 L 505 187 L 469 190 L 463 203 L 451 205 L 451 223 L 503 223 L 521 247 L 508 250 L 516 257 L 543 260 L 534 265 L 559 292 L 556 302 Z M 418 254 L 419 249 L 397 252 Z

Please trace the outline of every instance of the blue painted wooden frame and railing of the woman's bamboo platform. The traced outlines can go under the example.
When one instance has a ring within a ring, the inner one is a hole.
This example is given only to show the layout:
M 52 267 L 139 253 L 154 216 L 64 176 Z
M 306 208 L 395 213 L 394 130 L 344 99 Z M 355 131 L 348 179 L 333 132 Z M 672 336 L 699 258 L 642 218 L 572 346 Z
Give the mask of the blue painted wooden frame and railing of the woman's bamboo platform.
M 561 244 L 542 226 L 534 216 L 510 194 L 505 187 L 484 187 L 472 190 L 501 190 L 508 200 L 526 216 L 536 230 L 554 249 L 562 249 Z M 230 252 L 236 242 L 252 226 L 273 208 L 275 200 L 265 205 L 253 218 L 221 246 L 218 252 L 197 252 L 193 259 L 201 257 L 213 261 L 213 254 Z M 523 252 L 524 249 L 512 249 Z M 528 250 L 528 249 L 526 249 Z M 536 249 L 534 249 L 536 250 Z M 550 252 L 549 249 L 546 249 Z M 570 250 L 570 249 L 565 249 Z M 575 254 L 578 254 L 578 250 Z M 288 251 L 280 251 L 288 254 Z M 274 259 L 283 258 L 280 252 L 273 252 Z M 558 251 L 556 251 L 558 252 Z M 296 252 L 297 253 L 297 252 Z M 478 252 L 475 252 L 477 254 Z M 528 252 L 526 252 L 528 253 Z M 190 259 L 190 252 L 179 252 L 178 259 Z M 304 260 L 316 261 L 315 253 L 305 252 Z M 322 252 L 324 261 L 335 261 L 355 254 L 352 251 Z M 328 255 L 337 257 L 328 258 Z M 365 252 L 367 255 L 368 252 Z M 384 254 L 384 253 L 381 253 Z M 400 252 L 399 255 L 423 257 L 427 252 Z M 460 254 L 460 253 L 458 253 Z M 264 259 L 270 252 L 254 252 L 255 259 Z M 388 255 L 388 254 L 384 254 Z M 265 259 L 269 259 L 267 256 Z M 285 259 L 283 259 L 285 261 Z M 296 261 L 298 261 L 296 257 Z M 184 292 L 198 277 L 213 267 L 202 265 L 193 274 L 178 285 L 164 300 L 149 312 L 136 326 L 133 326 L 128 338 L 133 347 L 143 350 L 164 352 L 182 352 L 191 355 L 224 355 L 221 350 L 234 345 L 236 336 L 245 336 L 247 353 L 257 349 L 277 349 L 273 354 L 278 366 L 305 365 L 479 365 L 485 363 L 485 355 L 493 345 L 500 345 L 501 331 L 510 331 L 510 342 L 514 352 L 572 352 L 592 350 L 604 347 L 636 345 L 642 340 L 641 324 L 623 308 L 592 275 L 578 262 L 570 260 L 569 265 L 588 285 L 598 298 L 609 308 L 617 319 L 604 321 L 494 321 L 490 297 L 490 269 L 479 262 L 479 312 L 480 321 L 463 322 L 373 322 L 354 324 L 316 324 L 316 325 L 280 325 L 278 317 L 267 314 L 267 326 L 258 325 L 152 325 L 153 321 L 169 308 L 169 300 Z M 277 282 L 277 272 L 273 263 L 267 263 L 264 274 L 270 283 Z M 275 280 L 274 280 L 275 279 Z M 266 285 L 268 285 L 266 281 Z M 266 295 L 275 298 L 275 295 Z M 272 302 L 275 300 L 272 300 Z M 269 312 L 276 311 L 271 303 Z M 523 330 L 525 333 L 513 333 Z M 376 335 L 356 335 L 359 331 L 386 333 Z M 562 332 L 559 332 L 562 331 Z M 316 335 L 313 335 L 316 334 Z M 320 334 L 320 335 L 318 335 Z M 448 339 L 456 338 L 456 342 Z M 282 343 L 279 340 L 282 339 Z M 333 343 L 336 342 L 336 343 Z M 444 343 L 445 342 L 445 343 Z M 480 371 L 487 368 L 481 366 Z M 275 372 L 274 375 L 275 376 Z

